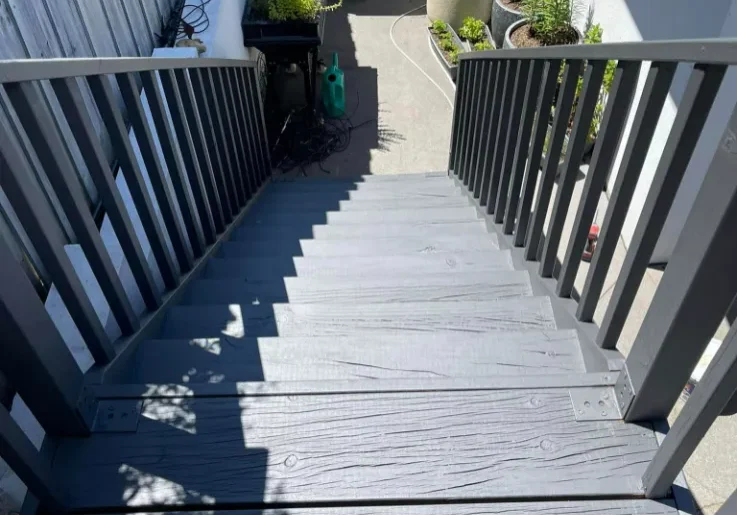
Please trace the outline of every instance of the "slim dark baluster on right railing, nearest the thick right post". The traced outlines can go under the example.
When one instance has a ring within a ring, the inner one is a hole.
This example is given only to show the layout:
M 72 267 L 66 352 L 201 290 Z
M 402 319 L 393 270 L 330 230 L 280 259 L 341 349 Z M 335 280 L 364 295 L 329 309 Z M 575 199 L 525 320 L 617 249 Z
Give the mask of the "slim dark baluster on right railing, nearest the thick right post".
M 660 230 L 670 212 L 681 178 L 691 160 L 725 72 L 726 66 L 700 64 L 695 65 L 691 72 L 601 323 L 597 343 L 603 348 L 613 349 L 617 345 L 648 261 L 660 237 Z M 726 306 L 719 316 L 723 316 L 725 312 Z

